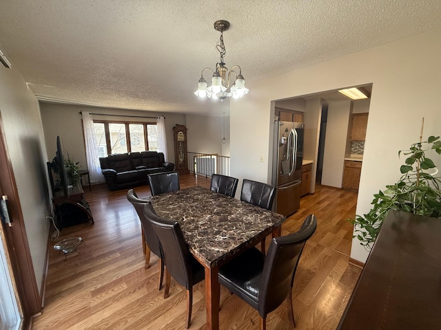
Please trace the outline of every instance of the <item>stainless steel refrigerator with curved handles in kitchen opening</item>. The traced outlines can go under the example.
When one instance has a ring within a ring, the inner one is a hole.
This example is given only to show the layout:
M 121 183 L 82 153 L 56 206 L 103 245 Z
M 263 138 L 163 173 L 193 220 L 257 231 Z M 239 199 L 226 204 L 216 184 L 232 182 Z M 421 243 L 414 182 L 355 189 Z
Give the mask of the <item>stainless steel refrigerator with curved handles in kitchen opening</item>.
M 274 122 L 274 211 L 286 216 L 300 208 L 304 126 L 300 122 Z

